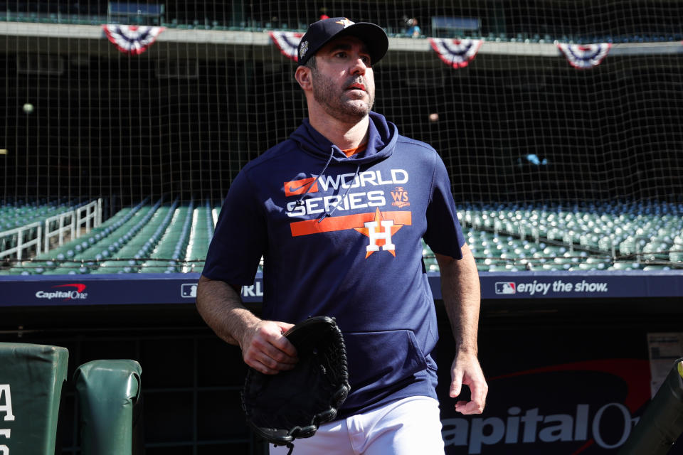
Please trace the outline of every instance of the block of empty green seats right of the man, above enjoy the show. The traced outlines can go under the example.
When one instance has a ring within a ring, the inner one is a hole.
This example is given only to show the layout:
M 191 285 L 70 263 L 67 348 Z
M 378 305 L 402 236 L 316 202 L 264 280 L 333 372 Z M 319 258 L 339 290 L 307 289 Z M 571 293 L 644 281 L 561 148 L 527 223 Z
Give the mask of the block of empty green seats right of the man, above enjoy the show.
M 462 205 L 477 267 L 502 270 L 683 268 L 683 204 Z

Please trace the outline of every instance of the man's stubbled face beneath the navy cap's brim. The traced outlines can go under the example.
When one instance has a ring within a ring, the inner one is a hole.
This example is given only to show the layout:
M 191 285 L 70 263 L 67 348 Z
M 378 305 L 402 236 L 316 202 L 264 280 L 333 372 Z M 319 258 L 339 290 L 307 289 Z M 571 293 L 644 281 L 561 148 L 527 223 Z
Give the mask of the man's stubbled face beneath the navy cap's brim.
M 314 100 L 346 123 L 364 118 L 375 102 L 375 80 L 366 45 L 354 36 L 337 38 L 315 54 Z

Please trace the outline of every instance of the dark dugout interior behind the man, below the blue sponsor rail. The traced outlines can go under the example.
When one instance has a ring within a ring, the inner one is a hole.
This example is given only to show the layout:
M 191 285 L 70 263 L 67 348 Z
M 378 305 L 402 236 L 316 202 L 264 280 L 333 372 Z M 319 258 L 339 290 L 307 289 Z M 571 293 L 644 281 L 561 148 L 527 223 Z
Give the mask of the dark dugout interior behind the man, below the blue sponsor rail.
M 490 287 L 489 279 L 512 278 L 482 274 L 482 287 Z M 4 304 L 1 340 L 68 348 L 68 378 L 89 360 L 138 360 L 147 454 L 261 453 L 262 444 L 248 432 L 240 409 L 245 369 L 239 350 L 204 326 L 194 304 L 145 301 L 168 282 L 148 281 L 149 294 L 137 293 L 137 301 L 120 305 L 96 304 L 97 284 L 88 286 L 93 304 Z M 678 333 L 679 298 L 487 297 L 480 358 L 491 391 L 487 412 L 467 419 L 449 409 L 452 341 L 443 303 L 435 301 L 447 454 L 573 453 L 584 446 L 587 454 L 615 453 L 650 399 L 648 335 Z M 258 301 L 248 306 L 258 313 Z M 67 382 L 60 410 L 63 454 L 78 453 L 73 387 Z

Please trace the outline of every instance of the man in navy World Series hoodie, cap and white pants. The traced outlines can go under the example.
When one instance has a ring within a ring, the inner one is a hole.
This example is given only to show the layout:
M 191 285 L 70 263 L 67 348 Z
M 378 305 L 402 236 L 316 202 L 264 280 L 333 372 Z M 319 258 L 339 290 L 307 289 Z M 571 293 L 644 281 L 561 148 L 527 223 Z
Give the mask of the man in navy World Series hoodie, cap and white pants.
M 338 419 L 297 440 L 297 454 L 443 454 L 433 296 L 421 239 L 437 254 L 457 352 L 450 396 L 482 412 L 477 360 L 480 289 L 443 162 L 371 112 L 373 65 L 388 48 L 371 23 L 311 24 L 295 78 L 308 119 L 233 182 L 199 280 L 197 306 L 211 328 L 266 374 L 294 368 L 282 336 L 309 316 L 333 316 L 344 333 L 351 393 Z M 263 318 L 240 301 L 260 257 Z M 280 453 L 272 448 L 271 454 Z M 285 452 L 282 452 L 285 453 Z

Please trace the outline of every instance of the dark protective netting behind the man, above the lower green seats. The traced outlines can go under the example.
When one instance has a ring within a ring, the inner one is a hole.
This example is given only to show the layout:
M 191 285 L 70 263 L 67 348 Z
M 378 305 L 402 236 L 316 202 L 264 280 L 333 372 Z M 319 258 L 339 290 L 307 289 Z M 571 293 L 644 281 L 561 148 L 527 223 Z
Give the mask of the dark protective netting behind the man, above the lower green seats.
M 101 200 L 105 220 L 144 200 L 219 204 L 305 117 L 284 54 L 326 14 L 386 29 L 375 110 L 439 151 L 462 210 L 607 204 L 679 219 L 682 11 L 654 0 L 0 1 L 1 202 Z M 162 28 L 131 38 L 122 25 Z

